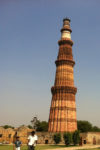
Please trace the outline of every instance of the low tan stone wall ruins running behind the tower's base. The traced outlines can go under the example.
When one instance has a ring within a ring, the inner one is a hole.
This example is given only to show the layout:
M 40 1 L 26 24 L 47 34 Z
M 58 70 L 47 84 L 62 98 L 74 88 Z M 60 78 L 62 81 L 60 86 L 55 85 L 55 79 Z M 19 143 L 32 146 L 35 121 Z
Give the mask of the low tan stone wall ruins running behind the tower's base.
M 17 129 L 4 129 L 0 127 L 0 143 L 11 144 L 15 141 L 15 137 L 19 136 L 23 144 L 27 144 L 28 135 L 33 131 L 25 126 Z M 37 132 L 38 144 L 54 144 L 53 135 L 54 133 L 49 132 Z M 81 133 L 81 145 L 84 144 L 100 144 L 100 132 L 88 132 Z M 61 143 L 64 144 L 63 134 L 61 134 Z

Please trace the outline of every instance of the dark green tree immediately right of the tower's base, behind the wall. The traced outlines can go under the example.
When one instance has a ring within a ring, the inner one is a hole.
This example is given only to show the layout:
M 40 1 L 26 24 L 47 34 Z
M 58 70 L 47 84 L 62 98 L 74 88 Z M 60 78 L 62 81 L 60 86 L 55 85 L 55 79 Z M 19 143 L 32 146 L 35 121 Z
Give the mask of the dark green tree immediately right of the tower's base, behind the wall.
M 77 126 L 80 132 L 92 131 L 92 124 L 88 121 L 77 121 Z

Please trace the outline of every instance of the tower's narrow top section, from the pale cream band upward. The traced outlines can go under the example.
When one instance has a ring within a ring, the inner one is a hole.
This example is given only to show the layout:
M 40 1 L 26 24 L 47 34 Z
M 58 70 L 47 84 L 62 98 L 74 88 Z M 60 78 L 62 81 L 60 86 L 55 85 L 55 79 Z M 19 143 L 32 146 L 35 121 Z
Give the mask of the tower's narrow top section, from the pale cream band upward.
M 63 19 L 63 27 L 61 29 L 61 39 L 71 39 L 71 28 L 70 28 L 70 19 L 64 18 Z

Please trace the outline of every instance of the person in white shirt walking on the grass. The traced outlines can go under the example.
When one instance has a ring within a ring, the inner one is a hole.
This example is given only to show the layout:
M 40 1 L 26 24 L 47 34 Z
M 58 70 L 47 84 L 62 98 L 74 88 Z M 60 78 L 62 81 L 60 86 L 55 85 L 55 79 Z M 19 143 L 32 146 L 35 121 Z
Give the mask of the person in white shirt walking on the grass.
M 28 137 L 28 150 L 35 150 L 37 140 L 38 140 L 38 137 L 35 134 L 35 131 L 32 131 L 31 135 L 29 135 Z

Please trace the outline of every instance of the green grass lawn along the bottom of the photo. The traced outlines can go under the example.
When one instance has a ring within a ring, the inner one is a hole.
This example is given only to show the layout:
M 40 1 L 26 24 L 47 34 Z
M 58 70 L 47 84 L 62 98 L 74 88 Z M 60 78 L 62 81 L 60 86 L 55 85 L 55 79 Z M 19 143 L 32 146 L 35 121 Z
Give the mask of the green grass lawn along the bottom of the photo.
M 45 150 L 45 149 L 64 148 L 64 147 L 66 146 L 65 145 L 37 145 L 35 150 Z M 13 150 L 13 146 L 12 145 L 0 145 L 0 150 Z M 22 146 L 21 150 L 27 150 L 27 146 Z M 100 148 L 88 149 L 88 150 L 100 150 Z

